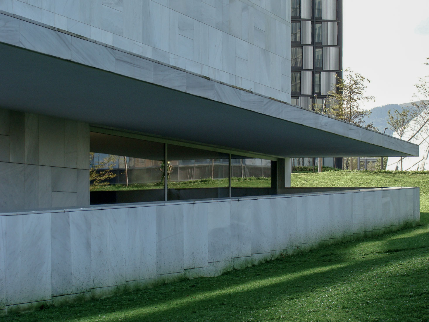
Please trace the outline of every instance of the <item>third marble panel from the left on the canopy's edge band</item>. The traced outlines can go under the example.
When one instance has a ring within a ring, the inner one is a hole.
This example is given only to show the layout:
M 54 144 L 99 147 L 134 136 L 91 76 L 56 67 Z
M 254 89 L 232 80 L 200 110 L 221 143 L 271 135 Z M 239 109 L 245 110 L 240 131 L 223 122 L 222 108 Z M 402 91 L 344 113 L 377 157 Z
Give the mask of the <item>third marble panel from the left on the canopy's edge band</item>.
M 113 49 L 76 37 L 72 38 L 71 60 L 102 70 L 115 71 Z

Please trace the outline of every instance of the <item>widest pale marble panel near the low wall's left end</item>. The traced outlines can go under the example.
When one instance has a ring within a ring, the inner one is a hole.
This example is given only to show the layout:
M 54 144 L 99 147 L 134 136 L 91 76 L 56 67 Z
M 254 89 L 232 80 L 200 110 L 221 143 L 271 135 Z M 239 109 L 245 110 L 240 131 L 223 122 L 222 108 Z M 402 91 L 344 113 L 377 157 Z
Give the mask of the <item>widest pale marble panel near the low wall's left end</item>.
M 51 299 L 51 214 L 6 217 L 6 305 Z

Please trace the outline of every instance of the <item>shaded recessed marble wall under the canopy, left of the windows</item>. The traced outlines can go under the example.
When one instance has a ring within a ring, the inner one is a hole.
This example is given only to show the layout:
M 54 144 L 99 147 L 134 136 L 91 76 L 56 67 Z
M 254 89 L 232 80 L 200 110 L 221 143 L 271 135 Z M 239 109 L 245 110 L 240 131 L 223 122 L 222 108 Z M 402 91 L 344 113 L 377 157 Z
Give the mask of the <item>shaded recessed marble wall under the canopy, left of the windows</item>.
M 0 109 L 0 212 L 89 205 L 89 125 Z

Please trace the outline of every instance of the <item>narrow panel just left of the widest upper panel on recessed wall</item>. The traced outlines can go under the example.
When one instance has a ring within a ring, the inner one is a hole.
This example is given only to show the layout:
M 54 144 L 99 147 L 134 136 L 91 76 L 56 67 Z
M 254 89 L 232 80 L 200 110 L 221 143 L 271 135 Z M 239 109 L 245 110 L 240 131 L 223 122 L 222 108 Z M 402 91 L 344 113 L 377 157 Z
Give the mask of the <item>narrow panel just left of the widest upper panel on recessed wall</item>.
M 39 116 L 25 113 L 24 116 L 24 162 L 39 163 Z

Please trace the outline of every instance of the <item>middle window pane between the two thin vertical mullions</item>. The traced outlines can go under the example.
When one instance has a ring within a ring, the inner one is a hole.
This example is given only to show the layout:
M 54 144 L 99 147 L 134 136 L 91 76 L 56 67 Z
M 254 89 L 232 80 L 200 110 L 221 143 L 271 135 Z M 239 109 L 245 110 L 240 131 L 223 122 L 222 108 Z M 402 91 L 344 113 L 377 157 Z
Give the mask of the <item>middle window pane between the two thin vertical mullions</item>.
M 229 155 L 226 153 L 167 146 L 168 200 L 229 196 Z

